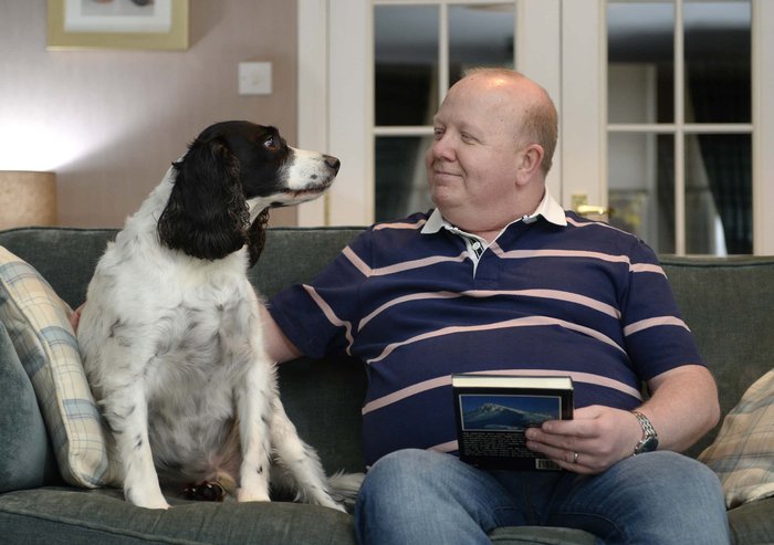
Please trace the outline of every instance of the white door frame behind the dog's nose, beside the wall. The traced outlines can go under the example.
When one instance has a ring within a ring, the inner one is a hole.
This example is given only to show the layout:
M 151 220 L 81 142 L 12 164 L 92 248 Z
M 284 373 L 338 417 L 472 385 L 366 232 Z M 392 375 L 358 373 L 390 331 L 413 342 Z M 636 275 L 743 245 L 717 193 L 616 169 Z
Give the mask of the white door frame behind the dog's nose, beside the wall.
M 372 6 L 365 0 L 297 2 L 299 146 L 342 160 L 326 197 L 299 207 L 299 224 L 367 226 L 374 221 Z M 346 32 L 332 30 L 342 22 Z

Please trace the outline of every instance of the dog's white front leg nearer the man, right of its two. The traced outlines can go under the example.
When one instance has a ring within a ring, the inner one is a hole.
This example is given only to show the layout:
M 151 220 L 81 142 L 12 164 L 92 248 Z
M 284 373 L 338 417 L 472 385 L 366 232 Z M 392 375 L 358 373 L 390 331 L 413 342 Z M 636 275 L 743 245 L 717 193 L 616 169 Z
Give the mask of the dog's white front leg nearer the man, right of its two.
M 252 365 L 237 391 L 239 436 L 242 448 L 240 502 L 268 502 L 271 463 L 270 399 L 274 395 L 273 367 L 262 361 Z

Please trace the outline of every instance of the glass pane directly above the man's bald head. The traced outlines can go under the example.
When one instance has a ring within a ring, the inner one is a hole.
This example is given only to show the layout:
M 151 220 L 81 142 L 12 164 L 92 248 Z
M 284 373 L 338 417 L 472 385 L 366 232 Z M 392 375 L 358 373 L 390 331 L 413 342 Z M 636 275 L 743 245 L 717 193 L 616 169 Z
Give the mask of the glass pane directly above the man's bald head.
M 513 67 L 513 2 L 449 8 L 449 85 L 472 66 Z

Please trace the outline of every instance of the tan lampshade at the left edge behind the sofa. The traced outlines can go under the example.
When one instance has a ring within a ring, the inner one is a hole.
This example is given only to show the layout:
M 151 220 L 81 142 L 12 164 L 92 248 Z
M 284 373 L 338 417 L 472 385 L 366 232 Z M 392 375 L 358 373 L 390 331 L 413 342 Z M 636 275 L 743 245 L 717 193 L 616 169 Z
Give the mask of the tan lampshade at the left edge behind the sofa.
M 0 170 L 0 229 L 56 223 L 56 175 Z

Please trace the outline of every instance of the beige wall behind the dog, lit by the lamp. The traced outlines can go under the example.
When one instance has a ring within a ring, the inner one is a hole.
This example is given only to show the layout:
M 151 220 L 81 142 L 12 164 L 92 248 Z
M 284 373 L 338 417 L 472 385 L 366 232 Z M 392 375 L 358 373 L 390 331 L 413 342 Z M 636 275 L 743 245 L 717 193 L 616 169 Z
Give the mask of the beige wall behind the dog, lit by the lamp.
M 45 25 L 46 0 L 0 0 L 0 170 L 54 170 L 60 224 L 122 226 L 211 123 L 295 142 L 294 1 L 190 0 L 182 52 L 46 51 Z M 241 61 L 273 64 L 271 95 L 238 94 Z

